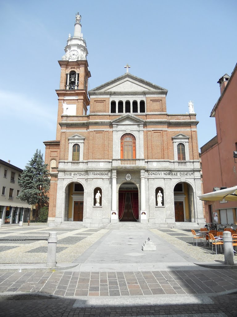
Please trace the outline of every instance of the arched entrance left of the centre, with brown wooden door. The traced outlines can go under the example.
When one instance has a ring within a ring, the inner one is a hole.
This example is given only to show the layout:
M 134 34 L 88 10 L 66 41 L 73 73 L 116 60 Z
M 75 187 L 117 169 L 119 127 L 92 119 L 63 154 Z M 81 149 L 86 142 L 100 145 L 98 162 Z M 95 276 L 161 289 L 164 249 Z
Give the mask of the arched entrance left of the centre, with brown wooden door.
M 65 190 L 65 220 L 83 221 L 84 188 L 78 182 L 70 183 Z

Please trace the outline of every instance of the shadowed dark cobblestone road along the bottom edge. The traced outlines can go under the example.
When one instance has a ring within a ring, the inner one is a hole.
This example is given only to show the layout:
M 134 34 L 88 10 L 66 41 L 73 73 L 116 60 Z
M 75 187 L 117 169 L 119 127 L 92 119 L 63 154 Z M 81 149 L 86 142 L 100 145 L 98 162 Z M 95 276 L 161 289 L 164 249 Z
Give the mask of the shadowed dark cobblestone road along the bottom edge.
M 170 295 L 172 296 L 172 295 Z M 110 316 L 137 316 L 137 317 L 233 317 L 236 316 L 236 295 L 191 297 L 186 303 L 179 297 L 179 303 L 162 300 L 145 301 L 140 299 L 137 304 L 133 301 L 113 301 L 106 303 L 102 297 L 100 304 L 87 302 L 83 297 L 79 300 L 54 298 L 28 294 L 9 295 L 0 297 L 0 317 L 110 317 Z M 156 297 L 157 298 L 157 297 Z M 158 297 L 159 298 L 159 297 Z M 167 298 L 167 296 L 166 296 Z M 92 299 L 92 298 L 91 298 Z M 174 298 L 173 298 L 174 299 Z M 138 298 L 139 300 L 139 298 Z

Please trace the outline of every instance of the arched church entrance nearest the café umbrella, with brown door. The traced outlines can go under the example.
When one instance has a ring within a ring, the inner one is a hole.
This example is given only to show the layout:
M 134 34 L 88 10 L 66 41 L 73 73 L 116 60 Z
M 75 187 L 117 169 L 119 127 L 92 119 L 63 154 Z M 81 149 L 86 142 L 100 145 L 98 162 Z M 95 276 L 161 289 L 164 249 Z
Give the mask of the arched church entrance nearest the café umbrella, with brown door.
M 175 222 L 194 222 L 193 189 L 188 183 L 174 186 L 174 215 Z

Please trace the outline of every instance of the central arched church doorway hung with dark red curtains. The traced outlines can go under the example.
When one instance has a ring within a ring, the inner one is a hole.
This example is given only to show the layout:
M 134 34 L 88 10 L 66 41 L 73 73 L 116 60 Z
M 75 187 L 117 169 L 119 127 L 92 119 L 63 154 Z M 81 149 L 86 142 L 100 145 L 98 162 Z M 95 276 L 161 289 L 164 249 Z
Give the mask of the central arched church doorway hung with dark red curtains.
M 124 183 L 119 187 L 119 221 L 138 221 L 138 188 L 133 183 Z

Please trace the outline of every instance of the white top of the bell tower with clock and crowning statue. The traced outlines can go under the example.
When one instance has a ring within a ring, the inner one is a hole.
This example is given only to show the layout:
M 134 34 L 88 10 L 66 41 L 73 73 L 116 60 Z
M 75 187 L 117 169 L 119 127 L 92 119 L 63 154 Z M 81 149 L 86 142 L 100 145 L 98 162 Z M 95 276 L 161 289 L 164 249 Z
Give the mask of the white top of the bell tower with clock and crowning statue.
M 88 55 L 86 41 L 83 38 L 81 32 L 81 18 L 82 16 L 79 12 L 76 13 L 75 27 L 74 27 L 74 36 L 68 37 L 67 45 L 65 46 L 65 55 L 63 55 L 63 61 L 83 61 L 86 60 Z

